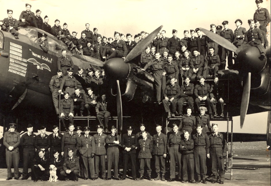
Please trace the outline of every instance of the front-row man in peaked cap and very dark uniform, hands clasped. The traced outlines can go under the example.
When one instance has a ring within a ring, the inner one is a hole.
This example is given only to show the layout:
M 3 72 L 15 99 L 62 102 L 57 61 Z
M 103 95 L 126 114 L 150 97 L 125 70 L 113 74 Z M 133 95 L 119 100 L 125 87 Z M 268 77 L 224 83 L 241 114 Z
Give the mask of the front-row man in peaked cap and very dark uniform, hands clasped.
M 126 179 L 126 172 L 128 168 L 128 160 L 130 157 L 131 168 L 132 168 L 132 178 L 136 180 L 136 172 L 135 172 L 135 147 L 138 146 L 138 139 L 135 134 L 132 134 L 133 127 L 127 127 L 127 134 L 123 134 L 121 139 L 121 147 L 123 148 L 123 174 L 120 180 Z

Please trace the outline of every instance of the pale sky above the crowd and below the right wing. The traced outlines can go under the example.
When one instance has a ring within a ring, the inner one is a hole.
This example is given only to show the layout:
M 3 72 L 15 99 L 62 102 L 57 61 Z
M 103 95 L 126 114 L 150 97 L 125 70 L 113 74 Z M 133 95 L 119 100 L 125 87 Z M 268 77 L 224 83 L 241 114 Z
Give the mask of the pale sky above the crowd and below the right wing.
M 269 13 L 270 1 L 263 3 Z M 113 37 L 114 31 L 133 36 L 140 31 L 151 33 L 163 25 L 167 37 L 172 37 L 172 29 L 176 29 L 177 37 L 183 38 L 184 30 L 197 27 L 210 29 L 210 24 L 222 25 L 224 20 L 229 21 L 229 29 L 234 30 L 236 19 L 241 19 L 242 26 L 248 29 L 247 20 L 253 18 L 257 9 L 254 0 L 0 0 L 0 20 L 7 17 L 7 9 L 13 10 L 13 17 L 19 19 L 20 13 L 25 10 L 25 3 L 32 5 L 34 13 L 37 9 L 41 10 L 42 18 L 47 15 L 51 26 L 54 26 L 55 19 L 60 20 L 61 26 L 66 22 L 70 32 L 78 32 L 78 38 L 86 23 L 106 37 Z M 270 34 L 268 41 L 270 43 Z M 264 127 L 255 127 L 259 123 Z M 266 124 L 267 112 L 247 115 L 243 129 L 240 129 L 240 117 L 234 117 L 234 132 L 264 134 Z M 226 122 L 221 125 L 225 130 Z

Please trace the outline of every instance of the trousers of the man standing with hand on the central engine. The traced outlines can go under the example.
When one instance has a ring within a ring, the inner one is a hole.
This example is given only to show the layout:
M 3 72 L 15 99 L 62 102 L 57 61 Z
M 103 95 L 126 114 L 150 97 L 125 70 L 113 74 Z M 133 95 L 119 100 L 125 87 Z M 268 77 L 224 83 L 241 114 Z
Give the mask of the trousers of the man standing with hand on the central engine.
M 163 76 L 162 73 L 163 71 L 158 71 L 158 72 L 153 73 L 157 101 L 161 101 L 161 94 L 163 94 L 166 87 L 165 76 Z

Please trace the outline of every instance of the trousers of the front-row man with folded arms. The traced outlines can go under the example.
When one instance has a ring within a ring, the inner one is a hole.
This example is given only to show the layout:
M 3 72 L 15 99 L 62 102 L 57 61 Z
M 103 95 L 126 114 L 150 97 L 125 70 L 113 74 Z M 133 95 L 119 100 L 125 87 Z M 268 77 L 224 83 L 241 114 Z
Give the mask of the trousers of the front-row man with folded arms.
M 194 155 L 182 154 L 182 180 L 194 180 Z

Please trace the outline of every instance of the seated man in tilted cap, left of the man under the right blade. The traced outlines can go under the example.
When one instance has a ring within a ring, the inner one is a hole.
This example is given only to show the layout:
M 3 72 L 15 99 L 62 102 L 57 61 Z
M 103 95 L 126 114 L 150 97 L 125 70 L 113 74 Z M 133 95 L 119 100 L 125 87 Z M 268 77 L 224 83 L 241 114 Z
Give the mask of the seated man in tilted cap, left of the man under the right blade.
M 199 76 L 202 75 L 203 65 L 204 65 L 204 57 L 199 53 L 199 51 L 194 50 L 193 52 L 194 57 L 190 60 L 190 71 L 191 74 L 197 74 L 197 79 Z

